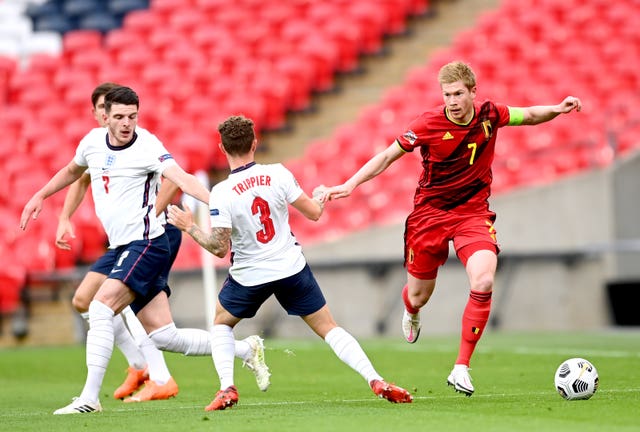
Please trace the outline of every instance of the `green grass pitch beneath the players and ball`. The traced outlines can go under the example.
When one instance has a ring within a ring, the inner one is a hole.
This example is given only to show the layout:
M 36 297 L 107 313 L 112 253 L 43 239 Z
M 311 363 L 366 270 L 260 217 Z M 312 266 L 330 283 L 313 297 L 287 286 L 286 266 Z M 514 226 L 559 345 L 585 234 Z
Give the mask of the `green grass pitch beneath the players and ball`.
M 266 393 L 236 363 L 240 402 L 205 412 L 218 389 L 210 357 L 165 358 L 180 386 L 168 401 L 124 404 L 111 393 L 126 364 L 115 352 L 105 377 L 102 413 L 53 416 L 79 395 L 84 347 L 0 350 L 0 431 L 640 431 L 640 331 L 595 333 L 487 332 L 479 343 L 468 398 L 447 387 L 457 336 L 363 340 L 380 374 L 409 389 L 412 404 L 377 399 L 364 380 L 319 339 L 268 339 L 273 372 Z M 553 374 L 569 357 L 598 369 L 590 400 L 565 401 Z

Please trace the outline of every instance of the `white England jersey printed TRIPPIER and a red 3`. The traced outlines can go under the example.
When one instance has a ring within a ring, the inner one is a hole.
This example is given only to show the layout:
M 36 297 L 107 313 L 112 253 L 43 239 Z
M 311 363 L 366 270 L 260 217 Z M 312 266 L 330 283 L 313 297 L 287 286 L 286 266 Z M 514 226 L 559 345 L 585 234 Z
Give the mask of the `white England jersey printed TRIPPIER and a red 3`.
M 231 276 L 246 286 L 300 272 L 302 247 L 289 226 L 289 204 L 302 195 L 282 164 L 251 163 L 211 190 L 211 226 L 231 228 Z

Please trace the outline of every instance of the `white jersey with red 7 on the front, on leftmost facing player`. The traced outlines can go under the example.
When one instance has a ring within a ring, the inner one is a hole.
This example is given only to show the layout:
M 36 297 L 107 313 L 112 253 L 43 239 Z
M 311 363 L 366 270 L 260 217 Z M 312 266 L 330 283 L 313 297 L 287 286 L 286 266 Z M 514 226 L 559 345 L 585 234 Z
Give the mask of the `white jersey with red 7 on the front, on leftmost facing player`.
M 156 218 L 156 194 L 162 172 L 176 162 L 155 135 L 137 127 L 129 144 L 114 147 L 107 130 L 95 128 L 80 141 L 74 161 L 91 174 L 96 214 L 110 248 L 164 232 Z

